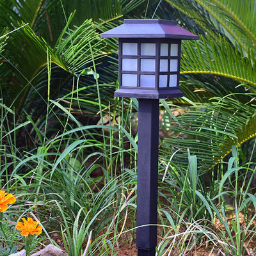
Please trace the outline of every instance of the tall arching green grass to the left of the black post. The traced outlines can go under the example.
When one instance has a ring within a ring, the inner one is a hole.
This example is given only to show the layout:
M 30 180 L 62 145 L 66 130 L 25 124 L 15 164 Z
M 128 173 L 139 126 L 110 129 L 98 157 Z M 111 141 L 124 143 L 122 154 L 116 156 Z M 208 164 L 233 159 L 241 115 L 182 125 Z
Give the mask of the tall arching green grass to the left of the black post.
M 20 123 L 12 109 L 1 105 L 1 188 L 17 198 L 10 221 L 33 212 L 49 241 L 52 232 L 60 232 L 70 255 L 86 253 L 86 239 L 90 252 L 114 250 L 136 208 L 136 142 L 127 132 L 131 106 L 120 109 L 117 101 L 115 109 L 102 106 L 99 124 L 83 125 L 70 111 L 73 104 L 82 106 L 79 92 L 57 100 L 48 97 L 44 120 L 27 114 Z M 72 104 L 67 108 L 65 102 Z M 100 100 L 92 104 L 100 106 Z M 114 115 L 121 116 L 119 124 Z M 17 146 L 22 132 L 30 136 L 27 148 Z

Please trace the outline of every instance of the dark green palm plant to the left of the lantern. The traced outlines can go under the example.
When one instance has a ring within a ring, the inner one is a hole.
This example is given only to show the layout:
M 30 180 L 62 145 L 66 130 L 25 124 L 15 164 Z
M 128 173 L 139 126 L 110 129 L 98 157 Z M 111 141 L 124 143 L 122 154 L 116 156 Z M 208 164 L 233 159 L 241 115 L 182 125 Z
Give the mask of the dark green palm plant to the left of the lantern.
M 51 127 L 47 140 L 66 131 L 67 113 L 61 109 L 72 111 L 83 125 L 97 124 L 99 113 L 109 115 L 109 104 L 115 104 L 117 64 L 106 52 L 116 54 L 116 49 L 110 40 L 102 40 L 100 33 L 108 29 L 105 22 L 118 23 L 141 3 L 0 1 L 0 31 L 3 35 L 9 31 L 7 38 L 0 38 L 5 42 L 0 52 L 1 103 L 14 112 L 8 111 L 3 129 L 10 131 L 16 123 L 28 122 L 12 133 L 19 148 L 15 154 L 44 145 L 37 135 L 47 125 Z M 49 112 L 51 108 L 54 111 Z M 4 143 L 12 154 L 9 142 Z

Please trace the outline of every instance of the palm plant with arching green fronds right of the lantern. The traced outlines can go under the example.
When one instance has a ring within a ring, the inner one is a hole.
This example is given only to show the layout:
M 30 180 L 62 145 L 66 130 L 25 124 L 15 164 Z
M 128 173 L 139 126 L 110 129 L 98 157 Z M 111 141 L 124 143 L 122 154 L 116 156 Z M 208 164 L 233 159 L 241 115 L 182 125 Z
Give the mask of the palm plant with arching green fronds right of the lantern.
M 161 100 L 164 125 L 172 131 L 163 140 L 163 152 L 172 156 L 180 148 L 173 157 L 177 164 L 188 158 L 189 148 L 202 172 L 225 159 L 233 145 L 246 161 L 256 136 L 255 2 L 165 0 L 155 16 L 177 19 L 200 36 L 198 42 L 182 42 L 184 97 Z M 184 115 L 173 116 L 170 109 L 178 105 L 184 106 Z

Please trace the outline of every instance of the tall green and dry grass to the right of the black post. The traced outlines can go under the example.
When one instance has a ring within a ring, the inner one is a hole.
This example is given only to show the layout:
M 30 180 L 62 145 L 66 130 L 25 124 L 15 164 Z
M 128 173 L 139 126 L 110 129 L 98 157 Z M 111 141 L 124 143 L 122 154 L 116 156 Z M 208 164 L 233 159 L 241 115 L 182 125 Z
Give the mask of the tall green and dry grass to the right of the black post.
M 256 141 L 255 141 L 256 142 Z M 197 173 L 196 156 L 188 154 L 188 169 L 162 161 L 159 216 L 163 225 L 159 255 L 196 253 L 199 244 L 209 244 L 222 255 L 250 255 L 255 239 L 255 164 L 252 156 L 239 166 L 236 147 L 218 179 L 209 186 Z M 163 158 L 164 159 L 164 158 Z M 200 247 L 200 246 L 199 246 Z M 166 250 L 167 248 L 167 250 Z

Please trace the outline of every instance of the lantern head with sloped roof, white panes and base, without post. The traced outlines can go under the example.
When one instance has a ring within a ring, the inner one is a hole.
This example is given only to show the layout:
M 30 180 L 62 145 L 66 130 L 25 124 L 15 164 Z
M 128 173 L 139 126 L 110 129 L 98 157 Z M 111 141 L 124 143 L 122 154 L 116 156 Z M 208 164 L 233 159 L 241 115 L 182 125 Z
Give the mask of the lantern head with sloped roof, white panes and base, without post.
M 102 37 L 119 42 L 119 89 L 116 97 L 182 97 L 179 90 L 181 40 L 198 36 L 173 20 L 124 20 Z

